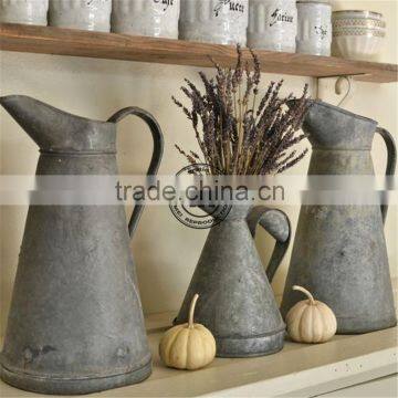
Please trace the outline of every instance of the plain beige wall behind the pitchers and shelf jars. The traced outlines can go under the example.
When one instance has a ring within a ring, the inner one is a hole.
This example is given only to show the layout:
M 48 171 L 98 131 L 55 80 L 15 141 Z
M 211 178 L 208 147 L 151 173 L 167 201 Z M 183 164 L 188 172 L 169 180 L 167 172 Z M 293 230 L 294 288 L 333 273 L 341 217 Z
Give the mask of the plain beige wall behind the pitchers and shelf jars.
M 384 13 L 388 35 L 380 61 L 397 63 L 397 1 L 336 1 L 335 9 L 369 9 Z M 175 174 L 185 166 L 176 153 L 175 143 L 196 149 L 197 145 L 188 121 L 170 101 L 184 77 L 199 84 L 197 69 L 134 62 L 63 57 L 40 54 L 0 52 L 1 95 L 25 94 L 55 107 L 91 118 L 106 119 L 115 111 L 138 105 L 151 112 L 161 125 L 166 148 L 160 174 Z M 211 73 L 211 70 L 208 71 Z M 263 86 L 275 75 L 263 75 Z M 315 95 L 316 81 L 283 76 L 284 93 L 297 95 L 308 83 Z M 335 80 L 320 82 L 320 96 L 336 104 Z M 357 83 L 354 95 L 344 105 L 347 109 L 377 119 L 396 137 L 397 84 Z M 123 174 L 145 174 L 151 153 L 150 135 L 142 122 L 123 122 L 118 133 L 118 163 Z M 32 175 L 38 148 L 27 134 L 3 111 L 0 111 L 0 172 L 2 175 Z M 375 139 L 373 157 L 376 170 L 384 172 L 384 144 Z M 306 174 L 307 157 L 290 174 Z M 285 207 L 295 228 L 298 207 Z M 25 207 L 0 209 L 0 335 L 6 327 L 18 253 L 23 234 Z M 389 211 L 386 238 L 391 274 L 397 276 L 397 208 Z M 137 266 L 139 289 L 146 313 L 177 310 L 193 272 L 207 232 L 191 230 L 175 220 L 167 207 L 146 209 L 132 250 Z M 258 235 L 258 247 L 266 263 L 273 241 L 264 232 Z M 275 294 L 283 290 L 290 253 L 284 259 L 273 282 Z

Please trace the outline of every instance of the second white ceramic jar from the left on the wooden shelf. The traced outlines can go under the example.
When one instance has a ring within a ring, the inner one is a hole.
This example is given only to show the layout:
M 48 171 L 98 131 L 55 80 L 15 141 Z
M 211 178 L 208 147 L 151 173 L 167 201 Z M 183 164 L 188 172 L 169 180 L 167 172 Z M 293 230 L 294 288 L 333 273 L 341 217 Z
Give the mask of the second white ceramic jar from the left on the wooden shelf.
M 112 0 L 50 0 L 51 27 L 111 31 Z

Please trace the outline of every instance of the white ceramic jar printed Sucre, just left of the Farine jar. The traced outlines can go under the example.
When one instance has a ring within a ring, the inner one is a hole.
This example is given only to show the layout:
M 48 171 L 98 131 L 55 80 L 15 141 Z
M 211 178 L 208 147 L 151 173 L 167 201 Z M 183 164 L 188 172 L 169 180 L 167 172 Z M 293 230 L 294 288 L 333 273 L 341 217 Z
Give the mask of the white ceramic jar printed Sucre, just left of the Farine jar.
M 181 0 L 180 39 L 247 43 L 249 0 Z

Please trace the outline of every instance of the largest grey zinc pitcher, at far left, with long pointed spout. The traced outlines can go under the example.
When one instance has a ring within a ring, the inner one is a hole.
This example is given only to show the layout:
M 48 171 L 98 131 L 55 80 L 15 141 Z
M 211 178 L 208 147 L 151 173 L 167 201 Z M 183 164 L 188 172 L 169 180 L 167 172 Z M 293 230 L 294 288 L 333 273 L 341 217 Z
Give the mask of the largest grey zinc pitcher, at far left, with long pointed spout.
M 144 119 L 153 134 L 148 174 L 163 135 L 136 107 L 108 122 L 77 117 L 27 96 L 1 105 L 40 147 L 36 175 L 117 175 L 116 123 Z M 86 394 L 138 383 L 151 371 L 123 206 L 31 206 L 14 282 L 1 378 L 44 394 Z M 128 234 L 129 230 L 129 234 Z

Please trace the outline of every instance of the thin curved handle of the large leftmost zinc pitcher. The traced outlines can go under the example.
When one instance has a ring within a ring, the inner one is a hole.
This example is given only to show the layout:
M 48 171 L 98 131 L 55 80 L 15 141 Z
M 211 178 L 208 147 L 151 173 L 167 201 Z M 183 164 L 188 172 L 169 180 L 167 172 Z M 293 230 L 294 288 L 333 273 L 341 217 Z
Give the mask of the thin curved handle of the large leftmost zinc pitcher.
M 138 116 L 150 128 L 150 133 L 154 139 L 154 153 L 150 159 L 147 176 L 155 176 L 159 169 L 161 156 L 164 151 L 164 137 L 163 137 L 161 128 L 151 114 L 135 106 L 129 106 L 124 109 L 121 109 L 119 112 L 116 112 L 113 116 L 108 118 L 108 122 L 117 123 L 128 115 Z M 144 210 L 144 205 L 136 205 L 134 207 L 132 218 L 128 222 L 128 232 L 130 238 L 133 238 L 134 235 L 134 232 L 137 228 L 143 210 Z

